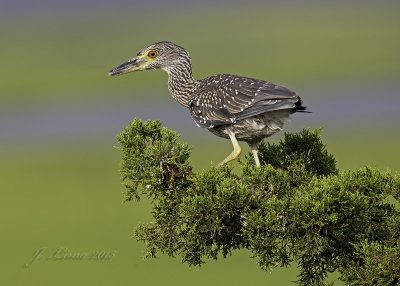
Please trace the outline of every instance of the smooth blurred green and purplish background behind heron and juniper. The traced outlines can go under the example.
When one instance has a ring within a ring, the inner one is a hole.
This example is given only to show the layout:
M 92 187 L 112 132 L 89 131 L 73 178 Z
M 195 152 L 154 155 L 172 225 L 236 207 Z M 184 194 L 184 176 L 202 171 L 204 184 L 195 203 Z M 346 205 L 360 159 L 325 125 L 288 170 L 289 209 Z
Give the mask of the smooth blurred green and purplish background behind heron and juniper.
M 313 113 L 295 114 L 286 131 L 323 127 L 342 170 L 400 169 L 395 1 L 1 5 L 1 285 L 290 285 L 296 279 L 295 267 L 259 270 L 248 251 L 201 268 L 179 257 L 141 258 L 144 246 L 131 235 L 139 221 L 151 220 L 150 204 L 122 203 L 115 135 L 134 117 L 164 120 L 193 146 L 196 170 L 231 152 L 229 141 L 197 128 L 174 102 L 163 71 L 106 76 L 156 41 L 185 47 L 196 78 L 233 73 L 297 91 Z M 64 259 L 51 259 L 57 249 Z

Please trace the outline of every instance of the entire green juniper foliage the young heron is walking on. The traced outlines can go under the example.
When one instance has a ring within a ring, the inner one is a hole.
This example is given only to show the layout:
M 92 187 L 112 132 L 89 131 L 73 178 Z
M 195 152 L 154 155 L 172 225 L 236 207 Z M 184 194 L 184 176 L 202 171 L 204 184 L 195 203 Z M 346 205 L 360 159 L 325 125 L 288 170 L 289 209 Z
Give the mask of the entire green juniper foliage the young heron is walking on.
M 146 256 L 189 265 L 248 249 L 261 269 L 299 268 L 298 285 L 400 283 L 400 179 L 362 168 L 339 172 L 320 130 L 285 134 L 232 167 L 195 173 L 190 147 L 160 121 L 135 119 L 117 136 L 125 200 L 152 200 L 154 221 L 135 237 Z

